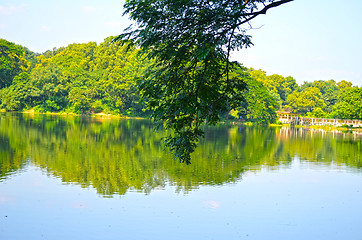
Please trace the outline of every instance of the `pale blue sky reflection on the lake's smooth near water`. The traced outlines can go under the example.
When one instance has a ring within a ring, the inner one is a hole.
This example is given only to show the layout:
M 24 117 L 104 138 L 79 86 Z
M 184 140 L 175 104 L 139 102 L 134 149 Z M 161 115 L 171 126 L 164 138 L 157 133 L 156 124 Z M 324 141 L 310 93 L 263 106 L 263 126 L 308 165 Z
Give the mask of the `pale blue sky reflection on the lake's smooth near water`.
M 187 194 L 113 198 L 31 163 L 0 182 L 0 239 L 360 239 L 361 173 L 294 158 Z

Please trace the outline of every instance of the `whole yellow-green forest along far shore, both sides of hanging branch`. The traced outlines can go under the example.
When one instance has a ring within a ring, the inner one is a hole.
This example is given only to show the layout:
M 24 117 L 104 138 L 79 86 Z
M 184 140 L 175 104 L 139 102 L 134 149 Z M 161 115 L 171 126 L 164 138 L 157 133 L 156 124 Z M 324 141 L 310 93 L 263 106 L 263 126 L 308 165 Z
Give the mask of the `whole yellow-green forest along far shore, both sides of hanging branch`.
M 40 113 L 105 113 L 147 116 L 139 83 L 155 66 L 131 42 L 70 44 L 42 54 L 0 39 L 0 109 Z M 317 118 L 362 119 L 362 87 L 349 81 L 315 80 L 240 68 L 247 90 L 223 118 L 274 122 L 276 111 Z

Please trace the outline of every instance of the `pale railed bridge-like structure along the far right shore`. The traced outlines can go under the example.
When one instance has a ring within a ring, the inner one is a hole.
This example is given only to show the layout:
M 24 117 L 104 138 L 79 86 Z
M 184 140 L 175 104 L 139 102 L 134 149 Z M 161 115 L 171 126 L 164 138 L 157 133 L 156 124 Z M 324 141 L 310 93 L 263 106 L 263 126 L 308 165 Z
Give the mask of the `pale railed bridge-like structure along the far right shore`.
M 361 120 L 348 120 L 348 119 L 328 119 L 328 118 L 310 118 L 310 117 L 301 117 L 299 114 L 287 113 L 287 112 L 277 112 L 278 119 L 284 124 L 291 125 L 303 125 L 303 126 L 353 126 L 353 127 L 362 127 Z

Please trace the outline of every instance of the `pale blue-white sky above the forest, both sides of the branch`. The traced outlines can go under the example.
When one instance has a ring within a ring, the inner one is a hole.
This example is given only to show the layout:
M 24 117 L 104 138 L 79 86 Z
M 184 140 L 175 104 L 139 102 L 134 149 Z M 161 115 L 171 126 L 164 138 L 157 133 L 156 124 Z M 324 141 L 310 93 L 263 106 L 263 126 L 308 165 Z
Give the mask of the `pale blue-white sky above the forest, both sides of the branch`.
M 1 0 L 0 38 L 44 52 L 102 42 L 129 25 L 123 0 Z M 246 67 L 304 81 L 362 86 L 362 1 L 295 0 L 252 22 L 254 46 L 235 52 Z

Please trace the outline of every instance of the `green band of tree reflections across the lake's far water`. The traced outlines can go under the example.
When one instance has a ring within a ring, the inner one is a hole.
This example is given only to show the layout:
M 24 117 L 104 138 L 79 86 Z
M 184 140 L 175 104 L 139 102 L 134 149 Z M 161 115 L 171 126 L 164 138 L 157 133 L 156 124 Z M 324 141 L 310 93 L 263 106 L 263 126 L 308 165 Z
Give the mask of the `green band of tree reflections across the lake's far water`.
M 238 181 L 248 171 L 289 167 L 295 157 L 361 170 L 360 135 L 227 125 L 205 131 L 186 166 L 163 151 L 167 133 L 155 133 L 149 121 L 1 114 L 0 181 L 21 171 L 26 159 L 105 196 L 149 193 L 166 183 L 187 192 Z

